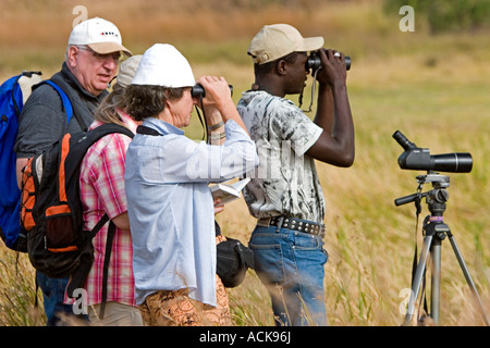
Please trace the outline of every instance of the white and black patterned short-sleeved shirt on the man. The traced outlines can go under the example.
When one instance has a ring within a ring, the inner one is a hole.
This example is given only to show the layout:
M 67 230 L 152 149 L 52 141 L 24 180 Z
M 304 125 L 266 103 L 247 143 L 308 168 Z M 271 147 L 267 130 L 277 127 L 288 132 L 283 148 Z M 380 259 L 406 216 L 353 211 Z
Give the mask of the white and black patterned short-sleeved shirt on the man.
M 264 90 L 242 95 L 237 110 L 257 146 L 259 166 L 244 189 L 257 219 L 287 215 L 323 223 L 324 198 L 315 161 L 305 152 L 323 129 L 291 100 Z

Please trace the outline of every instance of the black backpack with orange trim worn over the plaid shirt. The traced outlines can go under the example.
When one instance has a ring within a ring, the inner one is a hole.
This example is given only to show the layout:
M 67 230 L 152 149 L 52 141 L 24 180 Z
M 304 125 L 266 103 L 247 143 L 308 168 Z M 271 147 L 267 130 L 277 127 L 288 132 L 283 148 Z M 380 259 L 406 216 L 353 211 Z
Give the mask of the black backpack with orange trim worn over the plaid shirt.
M 65 134 L 23 170 L 21 232 L 27 239 L 30 263 L 49 277 L 72 275 L 74 288 L 83 287 L 94 260 L 91 239 L 109 221 L 106 214 L 93 231 L 83 231 L 79 165 L 88 148 L 111 133 L 133 137 L 117 124 Z M 112 222 L 111 229 L 115 229 Z

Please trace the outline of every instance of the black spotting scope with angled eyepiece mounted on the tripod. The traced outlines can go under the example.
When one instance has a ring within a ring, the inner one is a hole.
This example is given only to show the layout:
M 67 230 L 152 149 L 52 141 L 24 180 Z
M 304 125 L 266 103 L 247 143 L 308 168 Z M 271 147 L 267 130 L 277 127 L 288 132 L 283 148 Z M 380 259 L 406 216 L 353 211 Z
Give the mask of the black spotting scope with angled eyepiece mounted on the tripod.
M 440 171 L 451 173 L 469 173 L 473 169 L 473 158 L 467 152 L 453 152 L 443 154 L 430 154 L 429 149 L 420 149 L 409 141 L 400 130 L 393 134 L 393 138 L 405 150 L 399 157 L 399 165 L 402 170 L 414 171 Z

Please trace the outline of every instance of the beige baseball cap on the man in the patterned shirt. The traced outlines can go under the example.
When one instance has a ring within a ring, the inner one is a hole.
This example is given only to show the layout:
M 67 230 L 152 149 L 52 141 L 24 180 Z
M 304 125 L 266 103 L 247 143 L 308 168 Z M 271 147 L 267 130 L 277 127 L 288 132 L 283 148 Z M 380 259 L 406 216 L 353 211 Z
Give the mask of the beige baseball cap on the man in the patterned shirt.
M 248 54 L 254 63 L 272 62 L 292 52 L 315 51 L 323 47 L 321 36 L 304 38 L 299 32 L 289 24 L 264 26 L 252 39 Z

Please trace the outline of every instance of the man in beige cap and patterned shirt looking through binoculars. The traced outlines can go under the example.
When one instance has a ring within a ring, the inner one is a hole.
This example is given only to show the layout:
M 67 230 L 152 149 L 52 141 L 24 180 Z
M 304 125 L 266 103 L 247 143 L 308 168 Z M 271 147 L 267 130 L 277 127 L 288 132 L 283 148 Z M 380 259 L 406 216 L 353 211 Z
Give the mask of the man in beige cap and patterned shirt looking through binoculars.
M 255 84 L 237 105 L 260 160 L 244 189 L 258 219 L 249 247 L 279 325 L 327 325 L 326 206 L 314 160 L 336 166 L 354 161 L 345 58 L 322 46 L 322 37 L 304 38 L 287 24 L 262 27 L 248 48 Z M 321 59 L 314 121 L 284 98 L 305 87 L 308 51 Z

